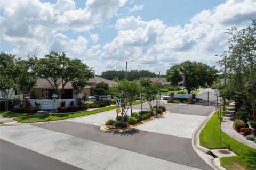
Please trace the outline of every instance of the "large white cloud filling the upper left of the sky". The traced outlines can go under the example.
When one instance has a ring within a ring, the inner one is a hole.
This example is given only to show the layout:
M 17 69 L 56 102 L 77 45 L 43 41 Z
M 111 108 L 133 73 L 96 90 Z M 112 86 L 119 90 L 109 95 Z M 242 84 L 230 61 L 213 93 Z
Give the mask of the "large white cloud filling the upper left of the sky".
M 65 49 L 73 55 L 81 54 L 84 47 L 79 43 L 87 42 L 84 37 L 78 37 L 78 47 L 72 47 L 69 44 L 76 44 L 73 40 L 56 33 L 61 30 L 93 29 L 95 24 L 102 24 L 116 15 L 118 8 L 125 2 L 126 0 L 88 0 L 84 9 L 76 9 L 73 0 L 58 0 L 56 4 L 39 0 L 1 1 L 1 8 L 4 10 L 0 17 L 1 43 L 16 45 L 12 52 L 17 54 L 38 53 L 33 52 L 36 49 L 49 51 L 53 47 Z M 92 35 L 91 38 L 95 42 L 99 39 L 98 35 Z M 62 44 L 60 40 L 63 40 Z M 58 42 L 63 46 L 59 46 Z M 71 53 L 72 50 L 74 52 Z

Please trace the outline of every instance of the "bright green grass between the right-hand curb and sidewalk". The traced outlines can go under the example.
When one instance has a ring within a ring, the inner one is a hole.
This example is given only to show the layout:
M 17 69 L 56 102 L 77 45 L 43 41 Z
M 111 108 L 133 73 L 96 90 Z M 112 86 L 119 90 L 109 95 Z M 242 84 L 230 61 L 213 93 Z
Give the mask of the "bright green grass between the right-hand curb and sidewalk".
M 221 115 L 223 117 L 224 113 L 221 112 Z M 220 140 L 219 123 L 215 112 L 199 135 L 200 145 L 209 149 L 229 148 L 235 152 L 238 156 L 220 158 L 221 166 L 226 169 L 256 169 L 256 149 L 238 142 L 222 131 Z

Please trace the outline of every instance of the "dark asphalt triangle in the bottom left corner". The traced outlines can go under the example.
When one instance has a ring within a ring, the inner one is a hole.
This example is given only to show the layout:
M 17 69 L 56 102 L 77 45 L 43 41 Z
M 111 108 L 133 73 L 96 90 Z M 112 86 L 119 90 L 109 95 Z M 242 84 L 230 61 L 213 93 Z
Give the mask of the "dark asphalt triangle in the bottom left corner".
M 35 151 L 14 145 L 0 139 L 0 169 L 1 170 L 79 170 L 75 166 L 59 160 L 38 154 Z

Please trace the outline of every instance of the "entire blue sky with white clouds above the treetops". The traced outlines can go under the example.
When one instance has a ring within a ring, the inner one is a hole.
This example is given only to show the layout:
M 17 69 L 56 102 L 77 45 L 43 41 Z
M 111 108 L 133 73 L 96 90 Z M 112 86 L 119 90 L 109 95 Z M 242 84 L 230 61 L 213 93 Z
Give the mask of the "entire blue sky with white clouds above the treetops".
M 225 32 L 250 25 L 256 0 L 2 0 L 0 17 L 1 52 L 65 52 L 96 74 L 126 61 L 127 70 L 165 74 L 186 60 L 219 68 Z

